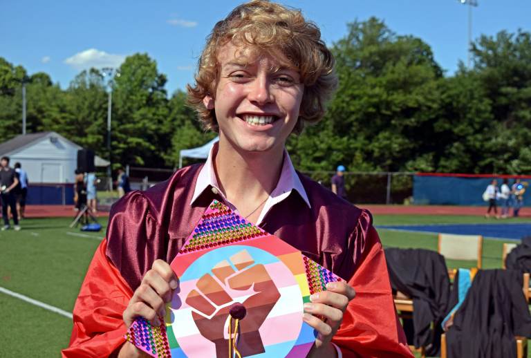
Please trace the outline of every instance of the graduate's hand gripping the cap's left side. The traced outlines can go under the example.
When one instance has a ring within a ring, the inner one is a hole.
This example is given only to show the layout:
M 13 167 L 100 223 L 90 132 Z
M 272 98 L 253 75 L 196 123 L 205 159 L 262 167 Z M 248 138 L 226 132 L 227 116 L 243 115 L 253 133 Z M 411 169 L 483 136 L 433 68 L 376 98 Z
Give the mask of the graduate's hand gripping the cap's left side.
M 144 317 L 153 326 L 160 326 L 158 316 L 165 317 L 165 303 L 171 301 L 178 285 L 178 279 L 168 263 L 162 260 L 153 262 L 124 310 L 125 326 L 129 329 L 136 317 Z

